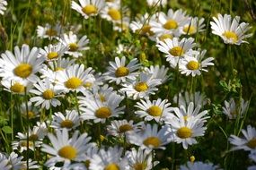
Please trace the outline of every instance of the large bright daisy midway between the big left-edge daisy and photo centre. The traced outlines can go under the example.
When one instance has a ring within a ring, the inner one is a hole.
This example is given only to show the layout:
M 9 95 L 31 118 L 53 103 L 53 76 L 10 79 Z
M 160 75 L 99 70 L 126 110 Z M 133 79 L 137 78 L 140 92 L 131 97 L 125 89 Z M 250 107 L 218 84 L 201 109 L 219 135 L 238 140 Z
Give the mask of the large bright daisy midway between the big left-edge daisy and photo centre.
M 57 72 L 56 88 L 64 90 L 65 92 L 75 91 L 82 92 L 85 95 L 84 84 L 88 80 L 95 80 L 93 76 L 93 68 L 84 69 L 84 64 L 72 65 L 66 70 Z

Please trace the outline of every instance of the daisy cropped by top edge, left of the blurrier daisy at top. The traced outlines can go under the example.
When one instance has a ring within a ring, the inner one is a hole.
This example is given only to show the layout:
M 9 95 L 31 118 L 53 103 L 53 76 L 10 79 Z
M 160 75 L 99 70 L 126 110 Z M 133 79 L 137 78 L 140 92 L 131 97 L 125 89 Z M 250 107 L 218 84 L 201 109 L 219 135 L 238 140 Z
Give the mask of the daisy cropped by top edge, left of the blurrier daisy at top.
M 104 5 L 105 2 L 103 0 L 79 0 L 79 4 L 72 1 L 71 8 L 81 13 L 84 19 L 88 19 L 90 16 L 98 15 Z

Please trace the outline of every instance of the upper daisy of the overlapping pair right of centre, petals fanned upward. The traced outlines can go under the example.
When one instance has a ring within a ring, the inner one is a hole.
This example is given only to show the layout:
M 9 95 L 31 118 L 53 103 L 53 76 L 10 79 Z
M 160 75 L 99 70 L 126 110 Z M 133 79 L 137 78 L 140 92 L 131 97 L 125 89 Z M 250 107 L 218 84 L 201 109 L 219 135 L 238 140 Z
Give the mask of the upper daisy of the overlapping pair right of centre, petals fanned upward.
M 181 40 L 179 38 L 166 38 L 164 42 L 160 41 L 156 47 L 165 54 L 166 60 L 171 64 L 172 68 L 178 65 L 184 55 L 199 53 L 192 50 L 193 47 L 196 47 L 194 38 L 182 38 Z

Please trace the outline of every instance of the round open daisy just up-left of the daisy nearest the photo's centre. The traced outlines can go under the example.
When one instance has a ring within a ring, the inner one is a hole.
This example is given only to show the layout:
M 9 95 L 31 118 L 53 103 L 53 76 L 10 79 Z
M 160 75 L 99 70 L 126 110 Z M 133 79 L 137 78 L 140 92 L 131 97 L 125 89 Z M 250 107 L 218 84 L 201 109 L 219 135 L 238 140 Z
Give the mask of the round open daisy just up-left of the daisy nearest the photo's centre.
M 140 64 L 138 64 L 137 58 L 132 59 L 126 65 L 126 57 L 122 56 L 115 57 L 115 62 L 110 62 L 110 66 L 107 68 L 108 72 L 105 72 L 103 76 L 106 81 L 116 82 L 117 84 L 126 82 L 128 80 L 136 80 L 137 70 L 139 69 Z

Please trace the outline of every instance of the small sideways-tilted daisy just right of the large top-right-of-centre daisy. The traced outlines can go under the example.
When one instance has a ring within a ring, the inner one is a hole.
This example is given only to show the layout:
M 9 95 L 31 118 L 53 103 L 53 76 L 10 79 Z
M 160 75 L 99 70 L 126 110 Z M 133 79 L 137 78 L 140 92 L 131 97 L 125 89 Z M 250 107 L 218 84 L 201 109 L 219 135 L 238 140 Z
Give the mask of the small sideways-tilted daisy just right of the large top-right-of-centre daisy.
M 197 32 L 204 31 L 203 29 L 206 26 L 206 24 L 204 24 L 204 21 L 204 18 L 199 19 L 198 17 L 190 17 L 188 23 L 181 28 L 181 34 L 193 35 Z

